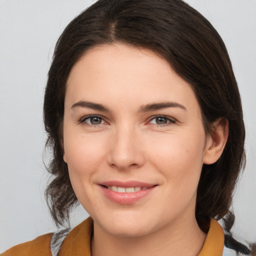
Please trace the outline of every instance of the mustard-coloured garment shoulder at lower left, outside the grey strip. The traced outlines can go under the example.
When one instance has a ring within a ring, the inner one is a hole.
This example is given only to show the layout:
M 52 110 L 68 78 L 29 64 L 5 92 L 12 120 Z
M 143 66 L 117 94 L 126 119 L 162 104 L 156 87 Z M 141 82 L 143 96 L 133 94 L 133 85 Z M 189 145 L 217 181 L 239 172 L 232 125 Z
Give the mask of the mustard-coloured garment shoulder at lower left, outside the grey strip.
M 34 240 L 20 243 L 6 250 L 1 256 L 51 256 L 50 241 L 52 233 L 36 237 Z

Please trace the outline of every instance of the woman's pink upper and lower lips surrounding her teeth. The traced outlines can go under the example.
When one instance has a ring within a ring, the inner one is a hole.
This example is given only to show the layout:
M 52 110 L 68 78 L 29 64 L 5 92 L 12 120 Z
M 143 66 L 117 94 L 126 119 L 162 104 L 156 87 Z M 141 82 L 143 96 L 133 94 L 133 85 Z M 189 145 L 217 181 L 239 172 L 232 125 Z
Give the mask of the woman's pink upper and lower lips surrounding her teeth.
M 106 188 L 107 186 L 121 186 L 121 187 L 134 187 L 134 186 L 141 186 L 141 187 L 148 187 L 147 189 L 127 193 L 119 193 L 113 190 Z M 140 181 L 105 181 L 99 184 L 101 191 L 103 194 L 111 201 L 118 203 L 118 204 L 132 204 L 140 199 L 144 198 L 145 196 L 149 195 L 157 186 L 157 184 L 150 184 Z

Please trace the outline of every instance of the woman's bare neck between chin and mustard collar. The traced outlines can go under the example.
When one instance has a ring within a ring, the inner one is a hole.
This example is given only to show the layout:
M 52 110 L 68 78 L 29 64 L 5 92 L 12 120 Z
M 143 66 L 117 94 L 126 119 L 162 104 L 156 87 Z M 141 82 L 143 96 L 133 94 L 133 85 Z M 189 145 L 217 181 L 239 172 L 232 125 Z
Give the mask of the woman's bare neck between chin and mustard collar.
M 92 256 L 195 256 L 205 237 L 195 217 L 181 218 L 176 223 L 138 237 L 112 235 L 94 223 L 91 250 Z

